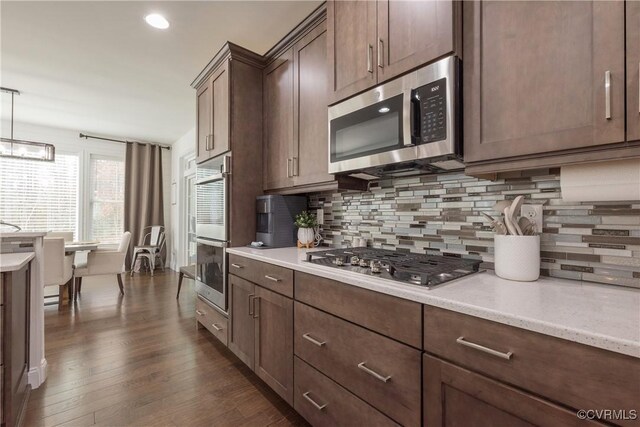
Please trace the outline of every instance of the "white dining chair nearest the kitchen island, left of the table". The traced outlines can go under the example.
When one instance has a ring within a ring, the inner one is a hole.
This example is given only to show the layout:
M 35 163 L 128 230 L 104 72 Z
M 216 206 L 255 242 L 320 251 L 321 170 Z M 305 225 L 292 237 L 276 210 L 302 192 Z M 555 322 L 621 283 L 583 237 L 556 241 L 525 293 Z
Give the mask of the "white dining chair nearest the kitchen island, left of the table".
M 73 254 L 65 255 L 64 238 L 44 239 L 44 286 L 58 286 L 58 305 L 62 304 L 64 291 L 73 301 Z M 51 303 L 54 304 L 54 303 Z

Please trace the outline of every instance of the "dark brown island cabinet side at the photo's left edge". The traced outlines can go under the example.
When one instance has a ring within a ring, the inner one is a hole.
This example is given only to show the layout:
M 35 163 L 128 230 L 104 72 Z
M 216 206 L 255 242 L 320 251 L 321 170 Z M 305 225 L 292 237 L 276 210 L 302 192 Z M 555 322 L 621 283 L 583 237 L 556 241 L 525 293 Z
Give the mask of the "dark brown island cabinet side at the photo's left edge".
M 31 298 L 30 264 L 2 273 L 0 321 L 0 425 L 20 425 L 31 387 L 29 374 L 29 307 Z

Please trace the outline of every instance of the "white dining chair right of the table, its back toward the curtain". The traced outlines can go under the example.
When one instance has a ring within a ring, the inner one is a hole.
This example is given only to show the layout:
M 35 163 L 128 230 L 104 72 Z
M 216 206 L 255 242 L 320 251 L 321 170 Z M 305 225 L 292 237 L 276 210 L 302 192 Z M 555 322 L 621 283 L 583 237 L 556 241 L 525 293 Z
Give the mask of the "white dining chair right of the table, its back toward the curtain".
M 122 273 L 125 272 L 124 259 L 129 249 L 131 233 L 125 231 L 120 239 L 120 245 L 115 251 L 97 250 L 87 254 L 86 265 L 78 265 L 75 270 L 75 298 L 82 291 L 82 278 L 86 276 L 102 276 L 115 274 L 118 279 L 120 293 L 124 295 Z

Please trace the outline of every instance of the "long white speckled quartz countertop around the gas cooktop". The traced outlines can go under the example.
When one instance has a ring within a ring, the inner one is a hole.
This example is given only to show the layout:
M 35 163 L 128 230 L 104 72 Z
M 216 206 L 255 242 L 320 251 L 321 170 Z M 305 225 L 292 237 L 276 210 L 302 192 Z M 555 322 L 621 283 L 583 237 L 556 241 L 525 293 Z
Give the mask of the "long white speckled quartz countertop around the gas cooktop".
M 489 271 L 429 290 L 306 262 L 308 251 L 325 249 L 240 247 L 228 252 L 640 358 L 640 290 L 551 277 L 515 282 Z

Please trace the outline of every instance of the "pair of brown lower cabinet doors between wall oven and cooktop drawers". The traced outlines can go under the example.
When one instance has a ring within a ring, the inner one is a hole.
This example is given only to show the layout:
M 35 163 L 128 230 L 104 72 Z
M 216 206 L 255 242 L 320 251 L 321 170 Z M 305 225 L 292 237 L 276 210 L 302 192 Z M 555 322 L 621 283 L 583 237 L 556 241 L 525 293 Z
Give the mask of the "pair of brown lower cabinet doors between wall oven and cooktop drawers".
M 229 275 L 229 349 L 293 404 L 293 300 Z

